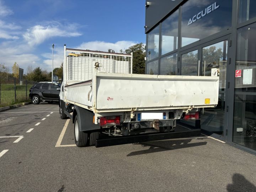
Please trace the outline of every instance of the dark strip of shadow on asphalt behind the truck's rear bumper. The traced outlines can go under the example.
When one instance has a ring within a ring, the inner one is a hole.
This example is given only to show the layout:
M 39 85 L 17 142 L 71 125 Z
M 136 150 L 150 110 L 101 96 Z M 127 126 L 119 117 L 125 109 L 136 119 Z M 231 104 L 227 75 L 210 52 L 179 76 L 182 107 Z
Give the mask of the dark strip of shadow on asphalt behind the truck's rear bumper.
M 201 145 L 207 144 L 207 142 L 190 143 L 191 140 L 192 139 L 181 139 L 181 140 L 164 140 L 164 141 L 135 143 L 134 145 L 142 145 L 144 147 L 149 146 L 150 148 L 146 150 L 133 151 L 132 153 L 129 153 L 127 156 L 157 153 L 162 151 L 189 148 L 189 147 L 195 147 L 195 146 L 201 146 Z

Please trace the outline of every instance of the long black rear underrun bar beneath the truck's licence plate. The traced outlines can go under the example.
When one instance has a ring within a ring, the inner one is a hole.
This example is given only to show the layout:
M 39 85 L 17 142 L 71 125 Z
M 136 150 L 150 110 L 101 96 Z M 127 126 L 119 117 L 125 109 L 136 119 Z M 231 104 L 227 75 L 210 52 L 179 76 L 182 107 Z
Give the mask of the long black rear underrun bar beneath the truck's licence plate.
M 154 133 L 154 134 L 142 134 L 142 135 L 129 135 L 121 137 L 113 137 L 107 139 L 97 139 L 96 147 L 112 146 L 112 145 L 122 145 L 128 143 L 140 143 L 155 140 L 164 139 L 174 139 L 183 137 L 193 137 L 201 134 L 201 129 L 192 129 L 180 132 L 170 132 L 170 133 Z

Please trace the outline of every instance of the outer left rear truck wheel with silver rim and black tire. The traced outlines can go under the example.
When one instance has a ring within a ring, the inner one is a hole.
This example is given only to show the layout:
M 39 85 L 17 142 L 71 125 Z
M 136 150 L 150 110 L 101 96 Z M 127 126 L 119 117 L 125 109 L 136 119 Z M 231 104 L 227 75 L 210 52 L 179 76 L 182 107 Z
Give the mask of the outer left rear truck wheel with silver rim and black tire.
M 87 145 L 88 142 L 88 133 L 79 130 L 80 123 L 79 123 L 79 116 L 75 116 L 74 121 L 74 135 L 75 135 L 75 144 L 78 147 L 84 147 Z

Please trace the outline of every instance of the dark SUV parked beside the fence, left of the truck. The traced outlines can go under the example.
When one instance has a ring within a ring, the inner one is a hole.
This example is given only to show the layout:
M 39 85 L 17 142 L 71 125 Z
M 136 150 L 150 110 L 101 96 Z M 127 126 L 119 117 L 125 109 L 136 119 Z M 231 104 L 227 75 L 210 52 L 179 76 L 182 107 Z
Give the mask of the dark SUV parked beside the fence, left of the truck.
M 33 104 L 37 105 L 40 101 L 53 103 L 59 102 L 60 86 L 51 83 L 37 83 L 30 88 L 29 97 Z

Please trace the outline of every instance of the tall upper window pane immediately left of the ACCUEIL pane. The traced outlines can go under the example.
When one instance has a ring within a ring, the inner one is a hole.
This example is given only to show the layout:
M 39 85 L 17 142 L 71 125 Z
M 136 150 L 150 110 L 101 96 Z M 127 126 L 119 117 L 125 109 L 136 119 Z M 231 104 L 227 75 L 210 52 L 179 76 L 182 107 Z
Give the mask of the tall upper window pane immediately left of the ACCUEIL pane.
M 178 10 L 162 22 L 161 37 L 162 55 L 178 48 Z

